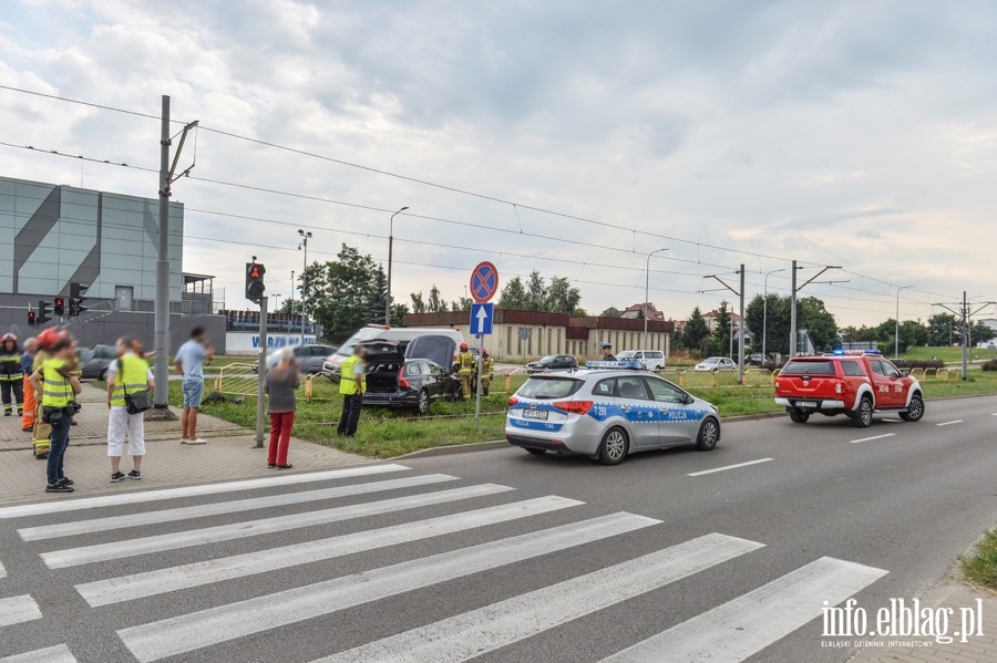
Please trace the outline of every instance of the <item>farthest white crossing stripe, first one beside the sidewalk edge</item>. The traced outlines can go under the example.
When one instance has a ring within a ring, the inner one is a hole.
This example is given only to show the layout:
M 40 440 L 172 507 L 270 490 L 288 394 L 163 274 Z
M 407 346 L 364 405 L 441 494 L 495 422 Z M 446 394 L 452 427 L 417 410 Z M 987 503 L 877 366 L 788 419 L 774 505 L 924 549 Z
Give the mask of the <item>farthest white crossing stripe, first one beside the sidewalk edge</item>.
M 21 518 L 23 516 L 40 516 L 43 514 L 61 514 L 64 511 L 81 511 L 100 507 L 114 507 L 120 505 L 134 505 L 158 499 L 178 499 L 183 497 L 198 497 L 201 495 L 215 495 L 218 493 L 235 493 L 253 488 L 273 488 L 274 486 L 294 486 L 312 481 L 327 481 L 330 479 L 345 479 L 361 477 L 386 472 L 402 472 L 410 469 L 404 465 L 366 465 L 345 469 L 330 469 L 315 474 L 287 474 L 267 477 L 265 479 L 249 479 L 245 481 L 228 481 L 225 484 L 209 484 L 206 486 L 185 486 L 183 488 L 164 488 L 162 490 L 147 490 L 144 493 L 124 493 L 120 495 L 104 495 L 102 497 L 86 497 L 83 499 L 68 499 L 63 501 L 43 501 L 39 504 L 20 505 L 17 507 L 0 508 L 0 519 Z

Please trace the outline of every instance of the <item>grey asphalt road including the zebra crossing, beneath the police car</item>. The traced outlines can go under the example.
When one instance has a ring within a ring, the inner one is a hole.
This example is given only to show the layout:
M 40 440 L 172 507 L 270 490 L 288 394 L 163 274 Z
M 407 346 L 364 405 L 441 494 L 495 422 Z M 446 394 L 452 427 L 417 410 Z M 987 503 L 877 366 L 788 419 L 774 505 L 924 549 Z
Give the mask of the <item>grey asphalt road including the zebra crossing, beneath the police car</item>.
M 995 428 L 978 397 L 618 467 L 510 448 L 0 509 L 0 656 L 845 661 L 822 601 L 933 587 L 994 526 Z

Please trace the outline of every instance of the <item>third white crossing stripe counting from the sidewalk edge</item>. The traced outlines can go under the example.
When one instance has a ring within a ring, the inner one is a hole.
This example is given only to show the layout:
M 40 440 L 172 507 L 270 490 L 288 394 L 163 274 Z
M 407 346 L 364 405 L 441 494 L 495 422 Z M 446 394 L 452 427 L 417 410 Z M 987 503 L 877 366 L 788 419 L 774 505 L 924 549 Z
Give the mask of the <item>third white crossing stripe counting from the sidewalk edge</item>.
M 233 539 L 243 539 L 276 531 L 299 529 L 312 525 L 325 525 L 340 520 L 363 518 L 378 514 L 390 514 L 393 511 L 470 499 L 472 497 L 481 497 L 484 495 L 495 495 L 496 493 L 505 493 L 507 490 L 513 490 L 513 488 L 510 488 L 508 486 L 497 486 L 495 484 L 482 484 L 479 486 L 454 488 L 452 490 L 439 490 L 436 493 L 425 493 L 422 495 L 398 497 L 394 499 L 382 499 L 380 501 L 368 501 L 335 507 L 331 509 L 322 509 L 320 511 L 309 511 L 307 514 L 297 514 L 294 517 L 278 516 L 275 518 L 264 518 L 261 520 L 248 520 L 245 522 L 233 522 L 230 525 L 218 525 L 216 527 L 205 527 L 202 529 L 144 537 L 141 539 L 127 539 L 123 541 L 111 541 L 110 543 L 84 546 L 82 548 L 54 550 L 52 552 L 42 552 L 40 557 L 50 569 L 62 569 L 65 567 L 75 567 L 110 559 L 162 552 L 163 550 L 176 550 L 177 548 L 188 548 L 191 546 L 230 541 Z

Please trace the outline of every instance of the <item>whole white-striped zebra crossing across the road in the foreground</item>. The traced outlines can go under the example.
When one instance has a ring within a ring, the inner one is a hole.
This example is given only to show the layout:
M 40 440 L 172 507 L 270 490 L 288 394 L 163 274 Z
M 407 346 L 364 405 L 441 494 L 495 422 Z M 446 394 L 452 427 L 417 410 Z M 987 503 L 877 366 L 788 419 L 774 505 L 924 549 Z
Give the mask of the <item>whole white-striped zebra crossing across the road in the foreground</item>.
M 276 488 L 286 491 L 275 493 Z M 233 493 L 239 495 L 227 499 L 226 494 Z M 196 504 L 188 504 L 192 498 Z M 336 504 L 343 498 L 362 501 Z M 295 512 L 255 517 L 261 509 L 289 506 L 296 507 Z M 433 508 L 445 512 L 422 515 Z M 79 518 L 83 509 L 92 512 Z M 634 537 L 652 537 L 666 527 L 637 514 L 594 515 L 597 510 L 557 495 L 520 496 L 510 486 L 470 484 L 386 464 L 0 508 L 0 526 L 11 521 L 20 545 L 49 572 L 69 579 L 75 600 L 83 602 L 81 619 L 100 621 L 101 612 L 109 610 L 131 614 L 130 607 L 141 604 L 131 622 L 103 628 L 131 660 L 147 663 L 229 660 L 218 652 L 251 648 L 276 631 L 294 633 L 315 620 L 335 620 L 368 605 L 391 624 L 392 599 L 445 592 L 445 583 L 579 556 L 593 545 L 623 551 Z M 208 526 L 208 518 L 230 521 Z M 368 518 L 379 520 L 367 525 Z M 143 528 L 151 526 L 171 531 L 145 535 Z M 114 540 L 86 542 L 88 536 L 104 531 L 113 531 Z M 329 533 L 333 536 L 322 536 Z M 79 537 L 84 537 L 83 545 L 74 543 Z M 479 607 L 373 635 L 361 644 L 338 645 L 329 636 L 312 643 L 308 655 L 311 663 L 467 661 L 528 644 L 574 620 L 667 591 L 762 548 L 764 542 L 711 532 L 651 552 L 615 555 L 613 563 L 556 581 L 541 579 L 514 595 L 500 592 Z M 164 551 L 169 555 L 158 557 Z M 390 562 L 350 566 L 349 560 L 358 559 L 350 556 L 359 553 L 380 553 Z M 310 570 L 300 586 L 273 591 L 270 584 L 261 590 L 254 584 L 278 570 L 299 568 Z M 668 652 L 669 661 L 743 661 L 820 617 L 823 601 L 837 604 L 885 574 L 882 569 L 819 558 L 687 621 L 662 622 L 647 640 L 620 642 L 618 651 L 604 660 L 660 661 L 661 652 Z M 0 579 L 3 576 L 0 563 Z M 48 615 L 44 600 L 28 594 L 3 598 L 8 593 L 3 582 L 0 642 L 7 644 L 0 656 L 7 657 L 0 663 L 86 660 L 74 654 L 78 644 L 72 641 L 10 651 L 13 636 L 6 632 Z M 227 597 L 230 591 L 236 598 L 204 599 L 205 592 Z M 292 660 L 308 657 L 298 654 Z

